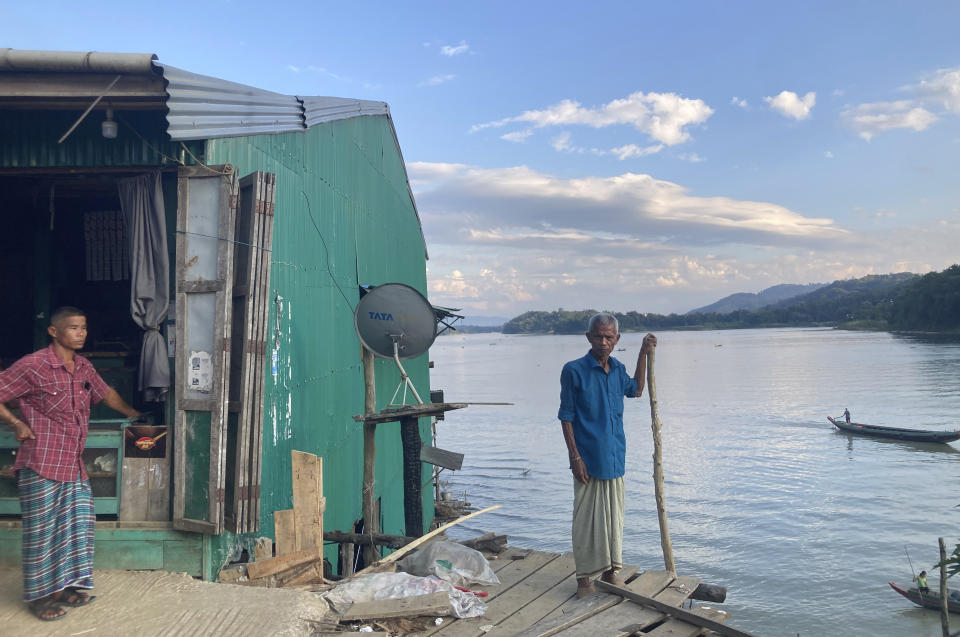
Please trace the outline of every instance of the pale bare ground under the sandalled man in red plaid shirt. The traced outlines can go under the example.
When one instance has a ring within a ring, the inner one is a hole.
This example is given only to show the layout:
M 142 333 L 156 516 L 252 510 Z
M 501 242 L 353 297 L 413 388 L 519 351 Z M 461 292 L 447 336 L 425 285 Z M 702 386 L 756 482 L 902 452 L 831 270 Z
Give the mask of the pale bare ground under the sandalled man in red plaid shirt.
M 311 635 L 331 619 L 313 593 L 201 582 L 165 571 L 94 571 L 97 599 L 53 622 L 23 603 L 20 569 L 0 567 L 0 633 L 113 637 Z M 334 620 L 335 621 L 335 620 Z

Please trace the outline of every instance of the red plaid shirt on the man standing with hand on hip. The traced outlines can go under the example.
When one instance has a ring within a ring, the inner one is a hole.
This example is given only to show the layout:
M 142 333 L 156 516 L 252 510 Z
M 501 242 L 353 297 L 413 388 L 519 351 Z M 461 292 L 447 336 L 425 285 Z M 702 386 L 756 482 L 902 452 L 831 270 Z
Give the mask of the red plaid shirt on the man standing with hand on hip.
M 74 356 L 71 374 L 53 345 L 24 356 L 0 372 L 0 402 L 19 399 L 24 421 L 36 440 L 20 443 L 13 470 L 33 469 L 58 482 L 87 479 L 80 454 L 87 441 L 90 405 L 107 395 L 110 387 L 93 365 Z

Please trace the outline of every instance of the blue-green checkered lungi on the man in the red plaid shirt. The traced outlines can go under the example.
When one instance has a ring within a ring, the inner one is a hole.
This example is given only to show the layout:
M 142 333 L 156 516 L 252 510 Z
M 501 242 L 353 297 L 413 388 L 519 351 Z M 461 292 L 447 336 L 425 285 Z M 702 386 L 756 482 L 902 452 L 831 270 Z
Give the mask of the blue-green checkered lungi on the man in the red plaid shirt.
M 17 486 L 23 519 L 24 601 L 42 599 L 68 586 L 93 588 L 90 481 L 57 482 L 20 469 Z

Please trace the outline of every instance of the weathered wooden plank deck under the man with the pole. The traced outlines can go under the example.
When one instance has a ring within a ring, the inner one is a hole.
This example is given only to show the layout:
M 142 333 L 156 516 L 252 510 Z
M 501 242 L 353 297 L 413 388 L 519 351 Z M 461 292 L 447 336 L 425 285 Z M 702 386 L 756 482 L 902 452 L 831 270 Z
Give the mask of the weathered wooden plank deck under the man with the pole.
M 490 562 L 500 584 L 473 587 L 485 590 L 487 612 L 469 619 L 444 618 L 419 635 L 438 637 L 564 637 L 601 635 L 653 635 L 658 637 L 693 637 L 717 633 L 625 599 L 621 594 L 597 591 L 577 599 L 573 554 L 543 553 L 508 548 Z M 646 571 L 637 575 L 636 567 L 625 567 L 620 576 L 624 589 L 653 598 L 679 609 L 700 580 L 693 577 L 672 577 L 664 571 Z M 621 591 L 623 593 L 624 591 Z M 708 606 L 688 610 L 694 615 L 722 622 L 728 614 Z M 682 614 L 678 610 L 676 614 Z M 746 635 L 722 626 L 730 635 Z

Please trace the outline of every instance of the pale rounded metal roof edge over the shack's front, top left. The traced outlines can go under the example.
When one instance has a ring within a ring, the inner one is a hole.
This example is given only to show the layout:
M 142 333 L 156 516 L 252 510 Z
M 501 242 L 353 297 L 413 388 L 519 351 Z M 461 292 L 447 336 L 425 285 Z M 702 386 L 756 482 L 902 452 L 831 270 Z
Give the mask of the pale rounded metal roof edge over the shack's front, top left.
M 153 53 L 27 51 L 0 49 L 0 71 L 61 73 L 151 73 Z

